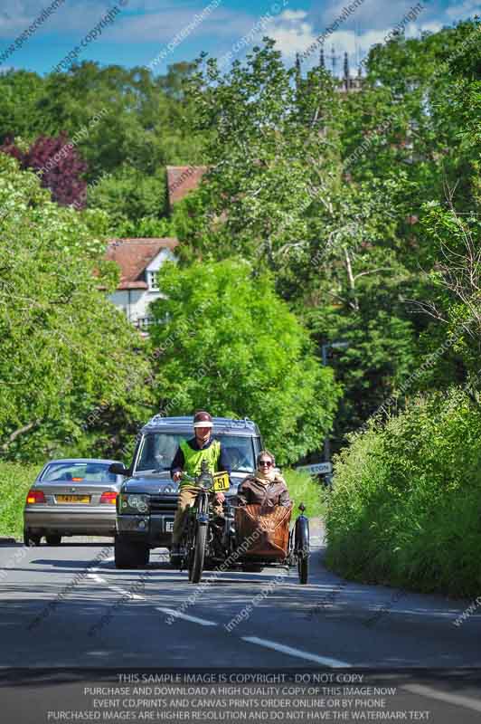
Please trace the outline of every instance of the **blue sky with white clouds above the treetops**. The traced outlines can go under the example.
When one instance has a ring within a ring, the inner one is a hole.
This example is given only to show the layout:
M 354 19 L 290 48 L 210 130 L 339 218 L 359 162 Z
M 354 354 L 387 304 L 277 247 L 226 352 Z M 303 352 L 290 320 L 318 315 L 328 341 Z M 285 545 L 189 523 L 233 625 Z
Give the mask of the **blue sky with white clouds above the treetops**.
M 334 55 L 337 72 L 348 52 L 354 74 L 369 48 L 382 43 L 396 25 L 402 24 L 406 36 L 418 37 L 481 15 L 481 0 L 356 1 L 358 6 L 325 43 L 327 65 L 333 67 Z M 15 38 L 52 2 L 0 0 L 0 71 L 49 72 L 76 47 L 78 62 L 145 65 L 165 74 L 169 64 L 192 61 L 204 51 L 227 69 L 263 35 L 274 38 L 285 62 L 292 64 L 296 53 L 305 52 L 354 0 L 56 0 L 52 14 L 5 57 Z M 99 27 L 108 13 L 109 22 Z M 409 13 L 414 19 L 406 17 Z M 318 53 L 312 53 L 305 68 L 317 60 Z

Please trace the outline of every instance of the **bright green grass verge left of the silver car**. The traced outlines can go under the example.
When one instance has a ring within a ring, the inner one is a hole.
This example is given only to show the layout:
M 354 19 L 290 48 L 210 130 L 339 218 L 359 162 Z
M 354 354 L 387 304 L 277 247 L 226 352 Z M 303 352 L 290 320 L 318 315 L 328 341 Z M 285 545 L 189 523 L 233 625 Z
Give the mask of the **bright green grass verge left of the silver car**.
M 40 468 L 0 462 L 0 536 L 21 540 L 24 535 L 24 504 Z

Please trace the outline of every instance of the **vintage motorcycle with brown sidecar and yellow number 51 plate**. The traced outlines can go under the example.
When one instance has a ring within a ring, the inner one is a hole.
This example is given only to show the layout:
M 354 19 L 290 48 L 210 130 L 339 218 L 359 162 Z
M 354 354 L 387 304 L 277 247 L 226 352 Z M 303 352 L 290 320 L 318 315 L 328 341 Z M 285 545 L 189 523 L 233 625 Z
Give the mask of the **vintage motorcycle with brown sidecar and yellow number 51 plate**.
M 227 472 L 211 473 L 203 461 L 200 474 L 192 478 L 199 491 L 184 519 L 181 549 L 175 567 L 187 568 L 189 581 L 199 583 L 204 569 L 260 571 L 264 567 L 297 567 L 299 583 L 307 584 L 309 570 L 309 520 L 306 507 L 289 530 L 292 506 L 266 510 L 260 505 L 234 506 L 224 503 L 223 518 L 212 514 L 212 494 L 229 490 Z

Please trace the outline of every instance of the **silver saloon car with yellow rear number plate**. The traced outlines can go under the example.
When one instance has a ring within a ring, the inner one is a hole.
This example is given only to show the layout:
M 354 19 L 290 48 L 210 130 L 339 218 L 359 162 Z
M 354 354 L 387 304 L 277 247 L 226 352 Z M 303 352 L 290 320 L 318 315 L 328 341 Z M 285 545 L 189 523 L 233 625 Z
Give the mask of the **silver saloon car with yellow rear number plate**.
M 113 536 L 122 475 L 108 472 L 114 460 L 72 458 L 43 466 L 27 494 L 24 544 L 42 536 L 59 545 L 62 536 Z

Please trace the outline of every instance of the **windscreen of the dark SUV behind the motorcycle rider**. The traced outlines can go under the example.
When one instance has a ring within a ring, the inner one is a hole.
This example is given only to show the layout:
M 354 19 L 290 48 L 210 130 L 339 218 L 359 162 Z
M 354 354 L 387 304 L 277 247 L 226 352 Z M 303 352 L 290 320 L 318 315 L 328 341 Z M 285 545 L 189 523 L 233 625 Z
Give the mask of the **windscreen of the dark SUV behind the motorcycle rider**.
M 192 434 L 146 433 L 137 454 L 135 472 L 161 472 L 170 470 L 174 454 L 181 440 L 188 440 Z M 254 444 L 251 437 L 244 435 L 214 435 L 221 440 L 232 472 L 251 472 L 254 464 Z

